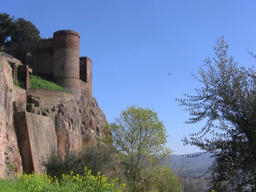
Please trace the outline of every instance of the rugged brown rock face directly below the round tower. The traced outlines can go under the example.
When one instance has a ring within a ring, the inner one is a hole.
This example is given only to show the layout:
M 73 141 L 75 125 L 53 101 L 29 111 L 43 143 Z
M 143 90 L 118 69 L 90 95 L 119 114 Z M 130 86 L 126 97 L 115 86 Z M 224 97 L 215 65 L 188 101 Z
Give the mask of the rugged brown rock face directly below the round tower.
M 97 143 L 99 141 L 95 137 L 102 138 L 110 134 L 109 131 L 103 131 L 103 125 L 107 123 L 106 117 L 95 100 L 90 101 L 83 96 L 79 101 L 62 100 L 51 109 L 35 107 L 34 103 L 27 104 L 27 112 L 40 114 L 40 111 L 43 116 L 52 118 L 55 123 L 57 147 L 63 154 L 80 149 L 89 142 Z

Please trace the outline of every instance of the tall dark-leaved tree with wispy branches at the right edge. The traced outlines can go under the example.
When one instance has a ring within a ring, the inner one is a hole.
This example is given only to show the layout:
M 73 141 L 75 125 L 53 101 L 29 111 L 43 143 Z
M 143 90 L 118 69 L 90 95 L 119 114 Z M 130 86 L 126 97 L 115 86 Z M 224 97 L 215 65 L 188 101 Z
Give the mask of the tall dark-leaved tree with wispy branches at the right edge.
M 213 153 L 208 169 L 210 188 L 245 191 L 256 185 L 256 73 L 238 67 L 228 57 L 224 38 L 217 40 L 213 62 L 207 58 L 199 70 L 197 94 L 176 99 L 193 117 L 186 123 L 206 120 L 197 133 L 183 139 Z

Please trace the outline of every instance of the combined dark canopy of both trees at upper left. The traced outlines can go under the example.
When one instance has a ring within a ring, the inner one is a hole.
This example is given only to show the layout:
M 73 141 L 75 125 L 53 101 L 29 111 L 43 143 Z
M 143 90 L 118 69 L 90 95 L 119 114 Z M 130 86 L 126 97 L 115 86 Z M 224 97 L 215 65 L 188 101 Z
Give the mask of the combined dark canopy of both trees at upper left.
M 30 21 L 0 13 L 0 47 L 10 48 L 12 42 L 41 39 L 39 30 Z

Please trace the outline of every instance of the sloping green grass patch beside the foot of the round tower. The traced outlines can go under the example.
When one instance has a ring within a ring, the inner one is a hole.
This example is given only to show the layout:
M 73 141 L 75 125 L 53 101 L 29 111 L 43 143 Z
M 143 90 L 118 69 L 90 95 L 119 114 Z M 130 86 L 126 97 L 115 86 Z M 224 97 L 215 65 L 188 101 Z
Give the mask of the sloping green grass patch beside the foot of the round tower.
M 69 91 L 57 85 L 56 83 L 49 82 L 38 76 L 29 75 L 29 82 L 30 82 L 29 84 L 30 89 L 43 89 L 43 90 L 62 91 L 62 92 L 69 93 Z

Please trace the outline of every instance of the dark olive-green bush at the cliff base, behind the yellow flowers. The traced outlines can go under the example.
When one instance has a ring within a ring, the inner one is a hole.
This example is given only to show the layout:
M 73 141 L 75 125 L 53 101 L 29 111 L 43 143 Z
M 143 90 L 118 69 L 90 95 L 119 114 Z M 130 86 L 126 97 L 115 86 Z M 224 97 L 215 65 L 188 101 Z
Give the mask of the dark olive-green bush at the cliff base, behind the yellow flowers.
M 91 170 L 92 175 L 101 172 L 110 175 L 114 169 L 113 148 L 109 145 L 100 147 L 89 144 L 79 151 L 71 151 L 62 159 L 59 151 L 52 150 L 46 162 L 44 162 L 46 171 L 51 176 L 61 178 L 62 173 L 68 174 L 71 171 L 76 174 L 83 174 L 84 167 Z

